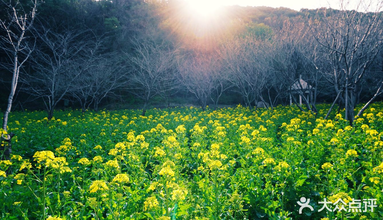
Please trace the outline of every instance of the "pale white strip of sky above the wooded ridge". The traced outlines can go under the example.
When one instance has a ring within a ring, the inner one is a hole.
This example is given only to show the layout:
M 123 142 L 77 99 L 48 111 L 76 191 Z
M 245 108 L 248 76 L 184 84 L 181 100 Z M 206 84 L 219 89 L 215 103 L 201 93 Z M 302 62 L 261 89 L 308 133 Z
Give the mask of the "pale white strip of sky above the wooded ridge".
M 196 2 L 198 0 L 189 1 Z M 339 0 L 204 0 L 203 2 L 209 2 L 208 4 L 214 3 L 217 5 L 268 6 L 273 8 L 285 7 L 297 11 L 299 11 L 301 8 L 340 8 Z M 349 3 L 346 9 L 352 10 L 357 7 L 357 2 L 360 2 L 360 0 L 344 0 L 344 2 Z M 383 4 L 383 0 L 362 0 L 362 2 L 363 4 L 372 2 L 372 6 L 368 8 L 368 11 L 375 11 L 378 4 Z M 359 7 L 358 11 L 365 11 L 365 8 L 365 5 L 362 5 L 362 7 Z

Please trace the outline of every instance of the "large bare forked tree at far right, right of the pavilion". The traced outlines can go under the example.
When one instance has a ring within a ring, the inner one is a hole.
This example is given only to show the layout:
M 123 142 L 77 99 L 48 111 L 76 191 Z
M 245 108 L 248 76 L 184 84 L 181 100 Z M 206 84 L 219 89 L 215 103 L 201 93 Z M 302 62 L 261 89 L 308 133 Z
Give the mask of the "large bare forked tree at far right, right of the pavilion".
M 331 64 L 331 72 L 327 72 L 325 77 L 344 104 L 345 119 L 350 124 L 354 121 L 356 98 L 363 76 L 370 73 L 370 67 L 383 44 L 382 17 L 378 13 L 382 2 L 374 13 L 358 12 L 364 3 L 360 1 L 358 8 L 348 11 L 346 2 L 341 1 L 339 11 L 318 11 L 316 20 L 309 22 L 313 36 L 326 49 L 324 57 Z M 383 78 L 380 80 L 383 81 Z

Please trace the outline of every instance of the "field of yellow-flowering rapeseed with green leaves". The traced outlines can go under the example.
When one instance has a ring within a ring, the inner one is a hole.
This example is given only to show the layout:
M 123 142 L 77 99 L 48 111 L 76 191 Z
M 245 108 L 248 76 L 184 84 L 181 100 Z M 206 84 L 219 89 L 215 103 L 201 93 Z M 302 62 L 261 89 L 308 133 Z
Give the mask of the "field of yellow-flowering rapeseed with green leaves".
M 381 219 L 382 103 L 342 116 L 275 110 L 172 108 L 13 112 L 0 161 L 2 219 L 339 219 L 324 198 L 375 198 Z M 344 112 L 341 112 L 344 114 Z M 19 156 L 20 155 L 20 156 Z M 298 214 L 310 198 L 314 212 Z M 364 217 L 365 216 L 365 217 Z

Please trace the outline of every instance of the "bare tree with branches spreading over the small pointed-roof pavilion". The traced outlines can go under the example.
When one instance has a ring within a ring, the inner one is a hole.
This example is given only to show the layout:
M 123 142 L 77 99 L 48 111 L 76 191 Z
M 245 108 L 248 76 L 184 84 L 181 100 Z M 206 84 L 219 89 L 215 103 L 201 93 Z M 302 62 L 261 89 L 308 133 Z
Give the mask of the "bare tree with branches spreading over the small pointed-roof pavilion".
M 321 91 L 318 88 L 322 88 L 323 80 L 318 68 L 318 65 L 322 65 L 322 59 L 313 41 L 309 30 L 300 20 L 285 21 L 273 38 L 271 57 L 275 76 L 291 102 L 304 111 L 296 100 L 295 95 L 298 94 L 300 102 L 308 110 L 316 112 L 316 96 Z

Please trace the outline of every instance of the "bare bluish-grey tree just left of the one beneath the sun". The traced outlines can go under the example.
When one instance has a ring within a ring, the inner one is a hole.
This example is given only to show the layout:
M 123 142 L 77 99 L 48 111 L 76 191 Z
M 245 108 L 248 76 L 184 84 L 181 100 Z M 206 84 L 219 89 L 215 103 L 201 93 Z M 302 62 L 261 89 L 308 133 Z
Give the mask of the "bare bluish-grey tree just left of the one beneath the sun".
M 131 64 L 128 91 L 144 100 L 142 115 L 145 115 L 149 100 L 173 88 L 175 53 L 165 42 L 156 42 L 151 37 L 134 39 L 133 53 L 126 54 Z M 169 84 L 170 83 L 170 84 Z

